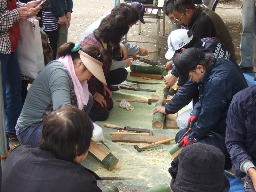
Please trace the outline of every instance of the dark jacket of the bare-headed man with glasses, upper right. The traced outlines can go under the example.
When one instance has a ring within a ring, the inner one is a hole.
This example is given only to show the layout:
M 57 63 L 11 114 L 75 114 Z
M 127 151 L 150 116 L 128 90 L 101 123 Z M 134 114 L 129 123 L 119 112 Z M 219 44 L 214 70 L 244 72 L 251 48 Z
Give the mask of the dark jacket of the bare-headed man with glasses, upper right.
M 228 28 L 214 11 L 201 5 L 197 5 L 190 22 L 188 30 L 194 31 L 194 35 L 200 39 L 205 37 L 217 37 L 227 48 L 232 60 L 236 61 L 235 48 Z

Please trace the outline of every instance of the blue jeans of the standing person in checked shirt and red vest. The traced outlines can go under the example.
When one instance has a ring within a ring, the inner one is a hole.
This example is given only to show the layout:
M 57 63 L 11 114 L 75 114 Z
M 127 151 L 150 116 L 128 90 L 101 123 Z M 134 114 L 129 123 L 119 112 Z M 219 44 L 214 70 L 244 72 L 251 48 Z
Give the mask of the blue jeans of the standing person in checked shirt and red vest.
M 17 51 L 11 54 L 0 53 L 2 85 L 4 96 L 6 132 L 15 132 L 15 125 L 22 109 L 21 76 Z M 9 139 L 7 138 L 7 146 Z

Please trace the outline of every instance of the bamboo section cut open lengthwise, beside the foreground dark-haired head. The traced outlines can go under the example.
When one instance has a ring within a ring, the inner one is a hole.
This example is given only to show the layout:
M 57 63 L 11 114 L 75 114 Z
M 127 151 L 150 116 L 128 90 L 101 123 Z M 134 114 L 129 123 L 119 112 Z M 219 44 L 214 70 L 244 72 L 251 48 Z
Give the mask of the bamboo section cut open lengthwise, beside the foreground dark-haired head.
M 118 159 L 112 153 L 99 147 L 93 141 L 91 141 L 89 147 L 89 154 L 100 162 L 108 171 L 112 170 L 118 162 Z

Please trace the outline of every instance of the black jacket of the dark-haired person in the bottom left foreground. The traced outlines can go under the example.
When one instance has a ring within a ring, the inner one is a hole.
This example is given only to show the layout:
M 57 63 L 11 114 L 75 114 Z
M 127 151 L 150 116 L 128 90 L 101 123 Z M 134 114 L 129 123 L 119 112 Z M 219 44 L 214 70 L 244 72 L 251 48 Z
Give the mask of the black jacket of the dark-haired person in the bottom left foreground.
M 2 171 L 4 192 L 102 192 L 96 181 L 100 177 L 91 170 L 30 145 L 15 148 Z

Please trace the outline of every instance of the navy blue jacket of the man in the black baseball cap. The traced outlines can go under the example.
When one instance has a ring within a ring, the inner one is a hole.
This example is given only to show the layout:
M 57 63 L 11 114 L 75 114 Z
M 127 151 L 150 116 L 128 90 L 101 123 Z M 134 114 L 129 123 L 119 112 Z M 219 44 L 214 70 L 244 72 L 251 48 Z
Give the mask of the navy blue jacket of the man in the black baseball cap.
M 216 58 L 199 82 L 199 102 L 190 113 L 197 116 L 189 140 L 202 140 L 210 132 L 226 134 L 228 107 L 233 96 L 248 87 L 243 74 L 226 59 Z M 223 143 L 225 144 L 225 143 Z

